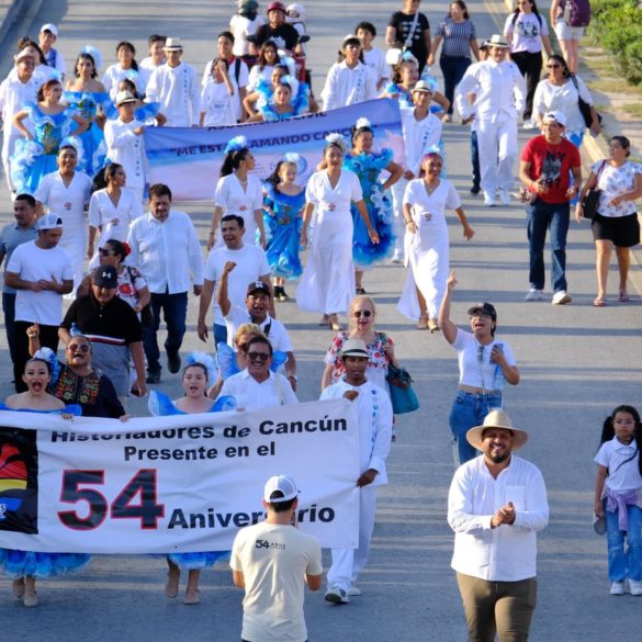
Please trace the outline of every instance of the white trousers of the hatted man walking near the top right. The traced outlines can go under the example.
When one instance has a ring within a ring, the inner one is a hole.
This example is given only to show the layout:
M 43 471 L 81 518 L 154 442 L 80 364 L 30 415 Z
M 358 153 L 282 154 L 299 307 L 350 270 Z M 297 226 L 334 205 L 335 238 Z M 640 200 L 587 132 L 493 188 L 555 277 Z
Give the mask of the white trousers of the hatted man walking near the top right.
M 484 192 L 513 189 L 513 168 L 517 158 L 517 121 L 499 114 L 494 121 L 480 120 L 480 184 Z

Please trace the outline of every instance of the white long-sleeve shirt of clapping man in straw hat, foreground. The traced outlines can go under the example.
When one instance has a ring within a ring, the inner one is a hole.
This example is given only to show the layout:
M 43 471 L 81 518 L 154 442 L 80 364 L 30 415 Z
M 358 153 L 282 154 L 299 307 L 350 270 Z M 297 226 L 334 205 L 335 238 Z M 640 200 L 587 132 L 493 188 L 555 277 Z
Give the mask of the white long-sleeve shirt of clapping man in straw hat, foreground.
M 515 522 L 491 528 L 498 508 L 515 505 Z M 454 531 L 451 566 L 491 582 L 537 575 L 537 531 L 549 522 L 547 487 L 539 469 L 514 454 L 495 480 L 484 455 L 462 464 L 448 493 L 448 523 Z

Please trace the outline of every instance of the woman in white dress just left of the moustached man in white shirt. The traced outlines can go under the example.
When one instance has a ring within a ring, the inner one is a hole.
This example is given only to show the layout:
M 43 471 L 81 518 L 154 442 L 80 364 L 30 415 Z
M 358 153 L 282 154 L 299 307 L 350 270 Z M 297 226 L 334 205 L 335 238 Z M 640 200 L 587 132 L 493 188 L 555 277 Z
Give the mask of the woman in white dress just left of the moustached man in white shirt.
M 126 240 L 134 218 L 143 214 L 143 205 L 134 190 L 126 188 L 127 176 L 122 165 L 112 162 L 104 170 L 106 188 L 97 190 L 89 201 L 89 244 L 87 258 L 98 264 L 94 256 L 95 233 L 100 234 L 98 247 L 104 247 L 110 238 Z

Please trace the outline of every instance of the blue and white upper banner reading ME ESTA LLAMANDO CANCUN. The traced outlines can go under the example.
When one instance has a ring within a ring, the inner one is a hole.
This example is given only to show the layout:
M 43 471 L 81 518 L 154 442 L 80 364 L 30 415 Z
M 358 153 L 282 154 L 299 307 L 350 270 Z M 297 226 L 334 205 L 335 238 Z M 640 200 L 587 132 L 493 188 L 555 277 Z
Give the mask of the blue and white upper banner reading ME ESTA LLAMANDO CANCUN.
M 399 105 L 387 98 L 278 123 L 209 128 L 147 127 L 148 182 L 169 185 L 177 201 L 212 201 L 225 145 L 234 136 L 243 135 L 257 160 L 257 176 L 266 179 L 285 153 L 295 151 L 301 155 L 296 182 L 305 185 L 322 160 L 325 137 L 339 132 L 350 145 L 350 127 L 361 117 L 372 124 L 375 148 L 393 149 L 395 160 L 403 162 Z

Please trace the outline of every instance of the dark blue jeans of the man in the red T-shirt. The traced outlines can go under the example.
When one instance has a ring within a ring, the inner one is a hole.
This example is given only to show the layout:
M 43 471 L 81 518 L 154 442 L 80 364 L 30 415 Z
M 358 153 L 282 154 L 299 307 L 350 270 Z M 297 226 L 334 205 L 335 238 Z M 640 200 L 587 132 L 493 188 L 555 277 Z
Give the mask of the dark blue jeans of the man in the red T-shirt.
M 537 199 L 527 205 L 528 241 L 530 251 L 530 286 L 544 289 L 544 244 L 551 230 L 551 282 L 553 292 L 566 290 L 566 234 L 571 207 L 568 203 L 544 203 Z

